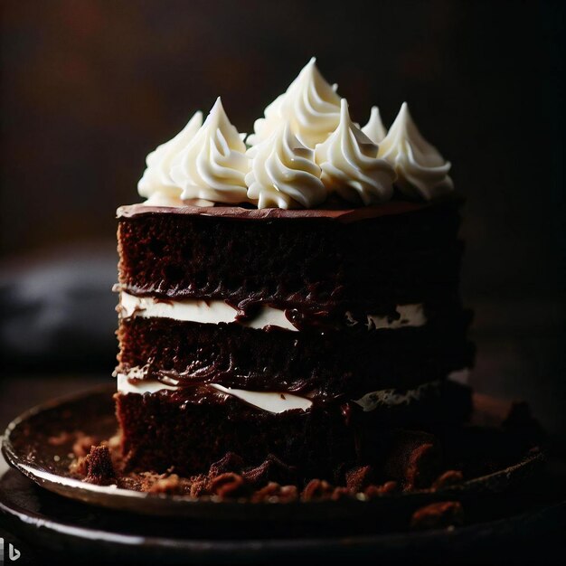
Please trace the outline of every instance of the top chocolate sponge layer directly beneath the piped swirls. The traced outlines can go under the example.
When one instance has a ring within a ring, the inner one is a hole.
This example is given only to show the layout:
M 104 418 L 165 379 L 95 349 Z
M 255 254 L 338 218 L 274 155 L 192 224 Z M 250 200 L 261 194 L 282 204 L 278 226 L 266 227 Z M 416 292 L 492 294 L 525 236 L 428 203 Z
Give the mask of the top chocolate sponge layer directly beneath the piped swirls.
M 302 312 L 391 313 L 458 297 L 458 205 L 347 223 L 322 212 L 246 220 L 141 208 L 118 219 L 119 282 L 134 295 L 223 298 L 241 308 L 269 301 Z

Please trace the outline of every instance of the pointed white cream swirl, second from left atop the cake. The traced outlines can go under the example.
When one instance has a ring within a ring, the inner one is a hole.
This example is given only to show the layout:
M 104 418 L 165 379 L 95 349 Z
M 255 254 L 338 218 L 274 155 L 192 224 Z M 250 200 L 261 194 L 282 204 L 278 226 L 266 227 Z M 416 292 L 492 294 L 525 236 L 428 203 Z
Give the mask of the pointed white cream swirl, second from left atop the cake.
M 220 97 L 188 146 L 175 156 L 171 178 L 181 198 L 214 203 L 244 203 L 250 160 L 238 130 L 226 116 Z

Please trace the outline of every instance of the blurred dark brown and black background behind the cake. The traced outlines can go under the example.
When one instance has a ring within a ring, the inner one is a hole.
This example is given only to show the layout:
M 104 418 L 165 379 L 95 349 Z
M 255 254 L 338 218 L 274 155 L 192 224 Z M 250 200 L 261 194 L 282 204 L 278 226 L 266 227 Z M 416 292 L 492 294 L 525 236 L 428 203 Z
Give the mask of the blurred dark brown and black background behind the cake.
M 110 379 L 114 212 L 139 200 L 146 154 L 218 95 L 250 132 L 316 55 L 356 121 L 377 104 L 389 126 L 407 100 L 452 162 L 470 381 L 564 435 L 564 43 L 548 1 L 5 0 L 1 420 Z

